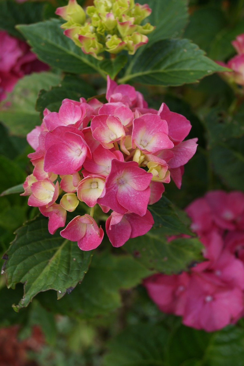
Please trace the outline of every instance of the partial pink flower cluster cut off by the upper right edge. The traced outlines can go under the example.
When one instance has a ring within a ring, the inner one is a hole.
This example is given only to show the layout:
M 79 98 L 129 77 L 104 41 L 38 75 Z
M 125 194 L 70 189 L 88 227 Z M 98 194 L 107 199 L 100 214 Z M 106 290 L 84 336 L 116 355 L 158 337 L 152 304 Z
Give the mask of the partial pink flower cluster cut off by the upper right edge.
M 231 43 L 237 55 L 230 59 L 227 64 L 220 61 L 218 63 L 233 70 L 222 73 L 228 81 L 244 86 L 244 34 L 237 36 L 236 40 Z

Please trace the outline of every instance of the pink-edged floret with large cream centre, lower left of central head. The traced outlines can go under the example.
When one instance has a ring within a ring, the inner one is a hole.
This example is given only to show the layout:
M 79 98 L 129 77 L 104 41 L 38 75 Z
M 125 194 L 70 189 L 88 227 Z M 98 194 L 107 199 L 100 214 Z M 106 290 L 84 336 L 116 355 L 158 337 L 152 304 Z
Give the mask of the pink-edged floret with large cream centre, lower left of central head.
M 28 205 L 39 206 L 51 206 L 59 196 L 59 182 L 54 185 L 51 180 L 43 179 L 32 183 L 30 187 L 32 194 L 28 199 Z

